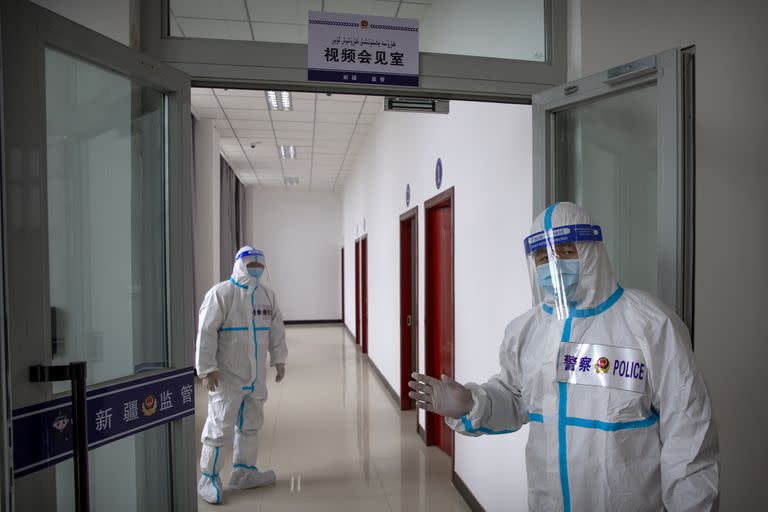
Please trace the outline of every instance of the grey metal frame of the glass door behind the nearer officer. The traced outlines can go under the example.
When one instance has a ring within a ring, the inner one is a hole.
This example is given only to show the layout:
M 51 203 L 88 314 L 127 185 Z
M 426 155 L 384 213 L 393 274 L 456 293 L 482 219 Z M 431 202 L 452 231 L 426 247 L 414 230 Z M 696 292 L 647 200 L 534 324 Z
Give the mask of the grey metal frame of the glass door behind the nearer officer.
M 555 114 L 651 84 L 657 88 L 658 280 L 659 298 L 692 326 L 693 291 L 686 278 L 688 225 L 683 156 L 682 53 L 672 49 L 568 82 L 533 96 L 533 215 L 554 201 Z M 692 141 L 689 141 L 692 143 Z M 690 191 L 689 191 L 690 193 Z

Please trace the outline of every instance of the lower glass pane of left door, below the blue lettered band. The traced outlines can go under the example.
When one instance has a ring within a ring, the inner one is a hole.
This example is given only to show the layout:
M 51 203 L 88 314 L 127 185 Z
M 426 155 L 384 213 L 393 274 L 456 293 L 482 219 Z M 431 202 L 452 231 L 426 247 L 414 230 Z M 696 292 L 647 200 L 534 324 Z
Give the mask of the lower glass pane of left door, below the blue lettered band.
M 91 510 L 171 510 L 169 446 L 168 425 L 160 425 L 92 450 Z M 72 459 L 56 466 L 58 512 L 75 510 L 74 478 Z

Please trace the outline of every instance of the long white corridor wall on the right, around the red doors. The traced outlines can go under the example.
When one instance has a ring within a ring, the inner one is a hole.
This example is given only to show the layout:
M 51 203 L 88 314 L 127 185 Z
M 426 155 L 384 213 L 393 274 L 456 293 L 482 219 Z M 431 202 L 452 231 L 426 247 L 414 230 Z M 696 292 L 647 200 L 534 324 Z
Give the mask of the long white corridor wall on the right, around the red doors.
M 506 324 L 531 306 L 522 240 L 531 222 L 531 108 L 451 102 L 450 115 L 379 115 L 344 189 L 346 323 L 354 332 L 354 240 L 368 233 L 369 355 L 400 391 L 399 216 L 419 206 L 419 360 L 424 368 L 424 209 L 455 187 L 456 379 L 498 369 Z M 435 187 L 435 163 L 443 185 Z M 363 229 L 365 219 L 366 229 Z M 423 425 L 423 417 L 420 419 Z M 488 511 L 527 510 L 527 428 L 456 436 L 456 472 Z

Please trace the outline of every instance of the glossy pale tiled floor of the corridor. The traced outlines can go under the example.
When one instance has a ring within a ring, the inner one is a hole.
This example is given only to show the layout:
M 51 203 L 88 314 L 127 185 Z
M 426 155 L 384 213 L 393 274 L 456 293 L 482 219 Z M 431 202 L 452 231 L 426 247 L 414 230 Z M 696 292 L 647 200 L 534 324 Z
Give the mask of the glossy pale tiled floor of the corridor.
M 199 510 L 249 512 L 468 511 L 451 484 L 451 461 L 416 434 L 416 413 L 400 412 L 343 327 L 289 327 L 286 378 L 274 382 L 260 435 L 259 469 L 275 486 L 230 491 Z M 198 383 L 199 386 L 199 383 Z M 198 387 L 198 438 L 207 394 Z M 200 447 L 198 445 L 198 457 Z M 222 450 L 232 460 L 232 447 Z M 198 478 L 199 478 L 198 469 Z

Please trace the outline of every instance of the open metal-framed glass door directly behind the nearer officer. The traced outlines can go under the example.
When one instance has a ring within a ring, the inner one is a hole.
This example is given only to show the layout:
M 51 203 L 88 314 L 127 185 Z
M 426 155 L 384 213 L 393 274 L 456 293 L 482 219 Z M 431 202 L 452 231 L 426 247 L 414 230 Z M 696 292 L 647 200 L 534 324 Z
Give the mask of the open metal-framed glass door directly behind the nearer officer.
M 583 206 L 603 226 L 618 281 L 659 297 L 691 327 L 686 53 L 670 50 L 533 96 L 534 215 L 555 201 Z

